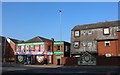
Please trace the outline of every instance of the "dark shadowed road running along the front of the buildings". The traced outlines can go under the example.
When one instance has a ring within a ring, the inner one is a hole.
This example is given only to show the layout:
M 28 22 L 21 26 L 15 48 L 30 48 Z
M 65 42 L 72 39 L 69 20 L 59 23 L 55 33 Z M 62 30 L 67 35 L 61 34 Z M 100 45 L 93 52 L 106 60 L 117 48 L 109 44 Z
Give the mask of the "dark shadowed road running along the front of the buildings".
M 73 74 L 73 75 L 120 75 L 120 66 L 55 66 L 55 65 L 9 65 L 2 67 L 2 75 L 12 74 Z

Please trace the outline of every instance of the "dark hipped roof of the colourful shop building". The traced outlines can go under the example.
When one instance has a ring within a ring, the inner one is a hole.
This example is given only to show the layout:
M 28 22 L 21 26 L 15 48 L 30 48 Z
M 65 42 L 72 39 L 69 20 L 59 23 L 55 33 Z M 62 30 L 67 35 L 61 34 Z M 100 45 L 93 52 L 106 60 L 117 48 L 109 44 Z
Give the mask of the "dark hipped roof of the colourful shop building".
M 51 41 L 50 39 L 47 38 L 43 38 L 40 36 L 36 36 L 30 40 L 25 41 L 25 43 L 32 43 L 32 42 L 47 42 L 47 41 Z

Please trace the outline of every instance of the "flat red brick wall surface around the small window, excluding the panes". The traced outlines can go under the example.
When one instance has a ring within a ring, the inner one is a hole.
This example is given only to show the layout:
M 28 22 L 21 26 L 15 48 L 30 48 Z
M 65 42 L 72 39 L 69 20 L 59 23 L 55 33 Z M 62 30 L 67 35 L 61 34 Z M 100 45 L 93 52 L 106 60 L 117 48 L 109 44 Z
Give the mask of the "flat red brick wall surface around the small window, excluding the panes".
M 111 40 L 110 46 L 105 46 L 105 41 L 98 41 L 98 55 L 105 55 L 106 53 L 110 53 L 112 56 L 117 55 L 117 40 Z

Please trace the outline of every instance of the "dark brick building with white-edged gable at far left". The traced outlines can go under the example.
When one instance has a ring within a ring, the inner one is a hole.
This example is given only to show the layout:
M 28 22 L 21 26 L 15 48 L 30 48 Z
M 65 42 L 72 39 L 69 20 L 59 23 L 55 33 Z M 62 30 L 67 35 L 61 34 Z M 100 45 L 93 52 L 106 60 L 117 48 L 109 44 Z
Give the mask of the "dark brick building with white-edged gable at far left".
M 16 44 L 22 41 L 13 38 L 6 38 L 3 36 L 0 36 L 0 41 L 2 51 L 2 62 L 14 62 Z

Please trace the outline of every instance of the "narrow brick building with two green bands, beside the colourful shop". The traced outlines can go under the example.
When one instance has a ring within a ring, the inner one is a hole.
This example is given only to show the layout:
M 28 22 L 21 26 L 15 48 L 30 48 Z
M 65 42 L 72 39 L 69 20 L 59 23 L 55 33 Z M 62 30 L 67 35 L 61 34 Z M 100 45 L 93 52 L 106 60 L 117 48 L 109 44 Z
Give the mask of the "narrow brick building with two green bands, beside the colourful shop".
M 70 43 L 65 41 L 54 41 L 53 52 L 53 64 L 63 64 L 63 58 L 70 57 Z

